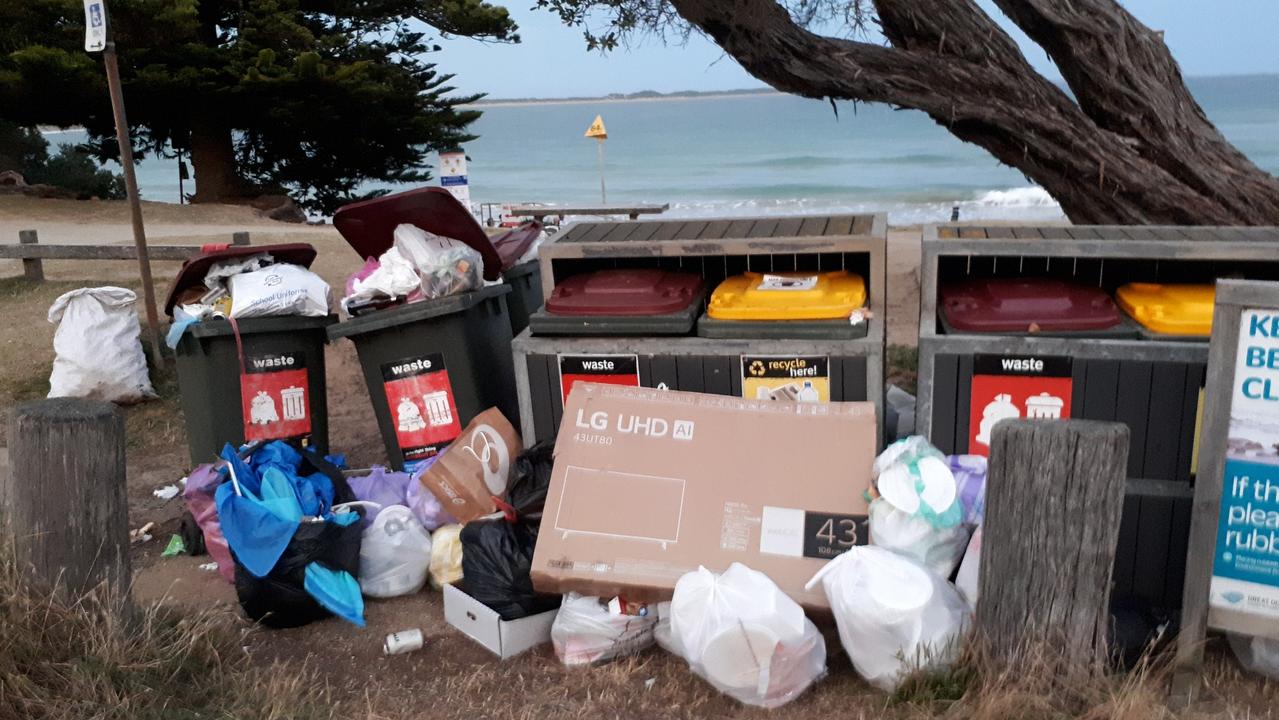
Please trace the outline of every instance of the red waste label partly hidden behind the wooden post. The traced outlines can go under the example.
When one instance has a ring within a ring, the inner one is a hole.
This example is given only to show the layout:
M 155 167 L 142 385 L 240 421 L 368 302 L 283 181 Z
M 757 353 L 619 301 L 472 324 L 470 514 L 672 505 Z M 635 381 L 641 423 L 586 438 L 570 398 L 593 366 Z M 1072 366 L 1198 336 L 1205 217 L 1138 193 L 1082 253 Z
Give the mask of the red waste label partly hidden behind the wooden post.
M 1071 358 L 975 356 L 968 453 L 990 455 L 990 431 L 1005 418 L 1071 417 Z

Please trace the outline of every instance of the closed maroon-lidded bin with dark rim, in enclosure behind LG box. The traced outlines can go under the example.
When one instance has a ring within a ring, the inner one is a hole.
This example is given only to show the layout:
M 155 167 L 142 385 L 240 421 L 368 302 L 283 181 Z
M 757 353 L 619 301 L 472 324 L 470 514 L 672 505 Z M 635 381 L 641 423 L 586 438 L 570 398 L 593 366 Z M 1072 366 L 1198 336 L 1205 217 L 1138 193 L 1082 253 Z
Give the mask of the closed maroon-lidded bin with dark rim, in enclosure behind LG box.
M 687 335 L 706 299 L 692 272 L 654 269 L 597 270 L 558 283 L 535 335 Z

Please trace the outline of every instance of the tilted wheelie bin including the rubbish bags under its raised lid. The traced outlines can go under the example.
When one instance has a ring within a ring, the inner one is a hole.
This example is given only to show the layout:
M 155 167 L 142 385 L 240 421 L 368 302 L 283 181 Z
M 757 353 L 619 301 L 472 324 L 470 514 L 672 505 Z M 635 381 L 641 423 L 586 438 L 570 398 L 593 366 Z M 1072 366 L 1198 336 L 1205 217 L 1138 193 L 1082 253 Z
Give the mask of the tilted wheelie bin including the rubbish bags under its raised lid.
M 518 417 L 512 288 L 485 284 L 501 260 L 471 212 L 422 188 L 344 206 L 334 225 L 376 265 L 348 284 L 350 317 L 329 338 L 356 345 L 391 467 L 435 457 L 487 408 Z

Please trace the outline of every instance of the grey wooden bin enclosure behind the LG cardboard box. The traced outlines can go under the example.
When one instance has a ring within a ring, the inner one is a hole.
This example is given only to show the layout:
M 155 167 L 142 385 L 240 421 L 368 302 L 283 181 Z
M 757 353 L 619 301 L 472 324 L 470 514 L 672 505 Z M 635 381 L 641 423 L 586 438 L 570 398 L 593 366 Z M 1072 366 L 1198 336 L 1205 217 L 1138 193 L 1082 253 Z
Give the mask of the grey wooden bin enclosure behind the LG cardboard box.
M 747 271 L 848 270 L 866 281 L 871 309 L 856 340 L 707 339 L 697 336 L 565 338 L 522 333 L 512 344 L 524 441 L 547 440 L 560 425 L 559 356 L 634 354 L 640 384 L 742 394 L 742 356 L 824 356 L 833 400 L 884 396 L 884 215 L 578 223 L 542 246 L 542 290 L 595 270 L 654 267 L 697 272 L 710 288 Z M 696 333 L 696 329 L 694 329 Z

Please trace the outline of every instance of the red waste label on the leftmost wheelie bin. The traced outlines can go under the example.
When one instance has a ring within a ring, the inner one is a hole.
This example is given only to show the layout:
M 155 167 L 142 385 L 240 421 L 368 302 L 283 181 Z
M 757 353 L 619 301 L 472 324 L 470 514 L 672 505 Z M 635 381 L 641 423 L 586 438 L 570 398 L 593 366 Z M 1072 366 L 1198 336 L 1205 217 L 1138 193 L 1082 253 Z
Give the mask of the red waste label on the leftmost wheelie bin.
M 311 436 L 307 361 L 302 353 L 247 356 L 240 373 L 244 441 Z

